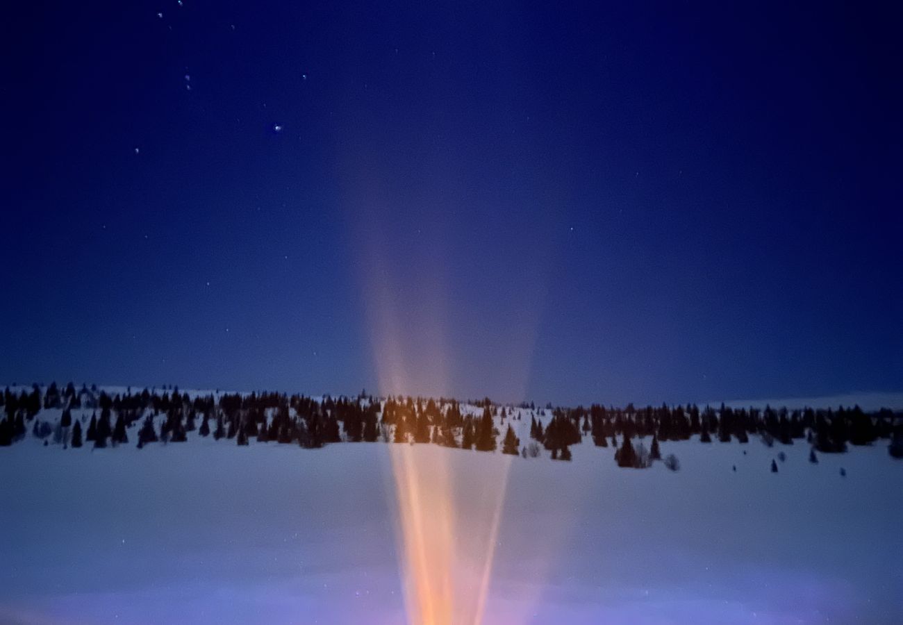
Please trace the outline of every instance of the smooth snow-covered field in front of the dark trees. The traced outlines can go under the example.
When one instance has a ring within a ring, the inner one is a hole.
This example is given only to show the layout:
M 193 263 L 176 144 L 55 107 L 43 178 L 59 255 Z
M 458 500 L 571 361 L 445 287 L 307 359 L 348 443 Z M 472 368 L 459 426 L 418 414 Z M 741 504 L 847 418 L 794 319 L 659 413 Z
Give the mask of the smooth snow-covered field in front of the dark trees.
M 0 621 L 903 622 L 884 444 L 814 465 L 805 444 L 667 442 L 670 472 L 589 439 L 551 462 L 132 432 L 0 449 Z

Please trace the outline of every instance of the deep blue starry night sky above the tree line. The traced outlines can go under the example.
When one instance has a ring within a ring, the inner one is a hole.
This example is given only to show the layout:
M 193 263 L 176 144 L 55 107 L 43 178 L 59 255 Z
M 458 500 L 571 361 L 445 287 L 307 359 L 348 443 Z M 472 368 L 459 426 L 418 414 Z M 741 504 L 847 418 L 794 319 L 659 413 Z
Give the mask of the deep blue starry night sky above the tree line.
M 183 1 L 5 9 L 4 382 L 903 389 L 899 5 Z

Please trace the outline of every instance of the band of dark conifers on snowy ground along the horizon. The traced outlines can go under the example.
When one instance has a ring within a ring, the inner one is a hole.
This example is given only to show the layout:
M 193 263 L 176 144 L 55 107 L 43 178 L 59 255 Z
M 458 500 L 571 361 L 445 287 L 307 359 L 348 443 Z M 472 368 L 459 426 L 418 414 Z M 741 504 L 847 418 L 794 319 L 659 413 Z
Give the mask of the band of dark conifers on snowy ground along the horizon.
M 661 460 L 659 443 L 697 437 L 700 443 L 736 440 L 748 443 L 758 436 L 769 446 L 804 442 L 815 451 L 842 453 L 848 445 L 888 442 L 890 455 L 903 457 L 903 413 L 881 409 L 866 413 L 859 406 L 815 410 L 787 410 L 766 406 L 715 409 L 695 404 L 637 408 L 601 406 L 536 407 L 534 404 L 498 405 L 489 398 L 470 402 L 479 414 L 462 410 L 448 398 L 389 396 L 375 399 L 361 392 L 356 397 L 323 397 L 280 393 L 189 396 L 178 387 L 117 393 L 110 396 L 97 387 L 52 383 L 42 390 L 33 385 L 18 394 L 9 387 L 0 395 L 0 446 L 34 436 L 64 446 L 95 448 L 130 442 L 136 445 L 184 443 L 189 434 L 213 439 L 257 443 L 297 444 L 314 449 L 330 443 L 433 443 L 443 447 L 480 452 L 498 450 L 535 457 L 541 450 L 553 460 L 571 459 L 571 446 L 589 440 L 611 446 L 619 466 L 643 468 Z M 42 409 L 61 409 L 51 424 L 39 418 Z M 91 410 L 74 419 L 71 411 Z M 522 446 L 512 423 L 529 416 L 531 442 Z M 505 429 L 502 435 L 498 425 Z M 506 427 L 507 425 L 507 427 Z M 646 448 L 644 440 L 651 443 Z M 676 459 L 666 462 L 675 464 Z

